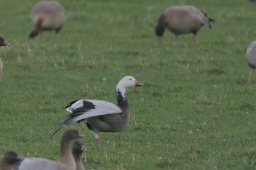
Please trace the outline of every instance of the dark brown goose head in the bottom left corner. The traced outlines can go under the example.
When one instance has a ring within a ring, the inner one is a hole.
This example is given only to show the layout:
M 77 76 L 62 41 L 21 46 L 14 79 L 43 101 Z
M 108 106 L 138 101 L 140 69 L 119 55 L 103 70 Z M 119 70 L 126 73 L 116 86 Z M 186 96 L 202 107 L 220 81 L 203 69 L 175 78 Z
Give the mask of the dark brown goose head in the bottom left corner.
M 1 170 L 13 170 L 14 164 L 20 162 L 23 158 L 20 157 L 19 153 L 15 150 L 8 150 L 4 153 L 2 162 L 1 162 Z

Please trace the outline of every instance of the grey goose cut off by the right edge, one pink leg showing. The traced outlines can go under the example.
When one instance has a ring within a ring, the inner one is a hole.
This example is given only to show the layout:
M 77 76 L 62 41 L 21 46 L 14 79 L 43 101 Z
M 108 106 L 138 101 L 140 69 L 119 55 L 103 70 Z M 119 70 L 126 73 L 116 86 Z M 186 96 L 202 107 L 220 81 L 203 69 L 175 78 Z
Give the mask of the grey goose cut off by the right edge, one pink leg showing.
M 246 50 L 246 62 L 250 67 L 250 76 L 248 78 L 248 83 L 252 80 L 253 69 L 256 68 L 256 41 L 250 43 Z

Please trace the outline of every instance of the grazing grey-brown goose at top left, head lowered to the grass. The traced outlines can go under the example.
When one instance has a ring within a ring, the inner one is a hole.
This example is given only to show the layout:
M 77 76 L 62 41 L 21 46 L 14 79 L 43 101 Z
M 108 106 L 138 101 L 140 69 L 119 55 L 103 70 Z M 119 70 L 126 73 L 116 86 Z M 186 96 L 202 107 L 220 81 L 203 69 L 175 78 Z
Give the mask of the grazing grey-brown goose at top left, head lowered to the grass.
M 37 3 L 31 11 L 31 19 L 35 24 L 29 38 L 33 38 L 40 34 L 42 37 L 42 31 L 56 31 L 56 38 L 59 36 L 59 32 L 66 20 L 66 13 L 60 3 L 55 1 L 40 1 Z

